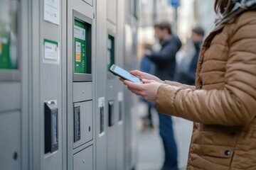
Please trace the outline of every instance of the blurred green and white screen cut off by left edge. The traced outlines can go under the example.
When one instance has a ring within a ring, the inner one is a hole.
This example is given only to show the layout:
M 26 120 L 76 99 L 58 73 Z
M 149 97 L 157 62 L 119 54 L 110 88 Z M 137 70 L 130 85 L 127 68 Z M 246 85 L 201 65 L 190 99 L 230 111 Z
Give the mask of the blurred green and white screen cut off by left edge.
M 16 1 L 0 2 L 0 69 L 18 69 Z

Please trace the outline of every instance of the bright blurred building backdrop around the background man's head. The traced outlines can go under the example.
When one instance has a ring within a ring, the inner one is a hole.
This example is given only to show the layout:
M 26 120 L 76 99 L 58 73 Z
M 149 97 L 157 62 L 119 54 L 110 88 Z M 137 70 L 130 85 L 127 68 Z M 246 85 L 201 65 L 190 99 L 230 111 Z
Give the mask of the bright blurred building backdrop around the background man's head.
M 181 38 L 183 43 L 186 43 L 195 24 L 193 22 L 193 0 L 180 0 L 180 6 L 177 8 L 177 20 L 171 0 L 140 0 L 139 6 L 139 57 L 142 56 L 142 44 L 155 42 L 152 26 L 159 21 L 169 21 L 174 33 Z

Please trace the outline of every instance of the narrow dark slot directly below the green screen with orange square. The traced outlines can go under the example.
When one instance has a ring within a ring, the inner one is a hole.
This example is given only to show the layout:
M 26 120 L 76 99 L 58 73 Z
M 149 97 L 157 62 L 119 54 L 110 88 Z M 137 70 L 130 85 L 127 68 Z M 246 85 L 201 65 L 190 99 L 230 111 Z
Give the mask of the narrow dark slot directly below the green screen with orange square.
M 74 142 L 81 139 L 80 131 L 80 106 L 74 107 Z

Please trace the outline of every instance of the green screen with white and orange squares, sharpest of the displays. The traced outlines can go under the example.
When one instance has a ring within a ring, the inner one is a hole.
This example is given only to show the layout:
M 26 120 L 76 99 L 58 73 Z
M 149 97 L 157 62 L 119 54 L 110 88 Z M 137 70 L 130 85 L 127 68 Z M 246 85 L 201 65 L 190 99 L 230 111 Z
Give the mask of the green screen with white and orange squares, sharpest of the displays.
M 74 68 L 75 73 L 86 74 L 86 26 L 75 20 L 74 26 Z

